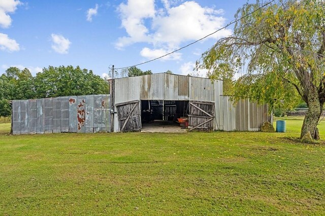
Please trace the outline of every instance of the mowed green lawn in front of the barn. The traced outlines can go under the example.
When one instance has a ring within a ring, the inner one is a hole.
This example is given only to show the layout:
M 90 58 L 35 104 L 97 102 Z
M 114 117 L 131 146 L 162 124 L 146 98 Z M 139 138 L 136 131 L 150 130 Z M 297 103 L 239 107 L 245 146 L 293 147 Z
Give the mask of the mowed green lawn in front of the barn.
M 5 135 L 0 215 L 324 215 L 321 141 L 286 133 Z

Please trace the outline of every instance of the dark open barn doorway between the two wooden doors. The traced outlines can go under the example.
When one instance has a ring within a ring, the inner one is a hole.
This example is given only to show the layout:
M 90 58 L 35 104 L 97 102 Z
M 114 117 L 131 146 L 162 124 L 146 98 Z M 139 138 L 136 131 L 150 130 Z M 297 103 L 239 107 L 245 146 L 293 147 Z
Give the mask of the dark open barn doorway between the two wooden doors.
M 186 132 L 188 100 L 141 100 L 142 132 Z

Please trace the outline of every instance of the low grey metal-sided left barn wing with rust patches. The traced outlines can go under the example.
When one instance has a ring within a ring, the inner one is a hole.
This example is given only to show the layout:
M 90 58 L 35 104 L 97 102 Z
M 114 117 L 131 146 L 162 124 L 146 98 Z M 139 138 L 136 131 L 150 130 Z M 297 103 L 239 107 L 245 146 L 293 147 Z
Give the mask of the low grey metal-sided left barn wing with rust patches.
M 111 127 L 110 95 L 14 100 L 12 108 L 13 134 L 93 133 Z

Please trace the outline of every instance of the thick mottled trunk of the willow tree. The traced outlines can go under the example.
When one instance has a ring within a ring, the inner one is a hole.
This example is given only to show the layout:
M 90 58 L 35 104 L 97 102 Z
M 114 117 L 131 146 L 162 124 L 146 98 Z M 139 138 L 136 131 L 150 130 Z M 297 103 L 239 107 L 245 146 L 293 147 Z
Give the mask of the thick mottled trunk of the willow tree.
M 310 131 L 313 139 L 316 138 L 316 127 L 322 113 L 323 104 L 319 102 L 318 94 L 308 97 L 308 112 L 305 116 L 303 126 L 301 128 L 300 138 Z

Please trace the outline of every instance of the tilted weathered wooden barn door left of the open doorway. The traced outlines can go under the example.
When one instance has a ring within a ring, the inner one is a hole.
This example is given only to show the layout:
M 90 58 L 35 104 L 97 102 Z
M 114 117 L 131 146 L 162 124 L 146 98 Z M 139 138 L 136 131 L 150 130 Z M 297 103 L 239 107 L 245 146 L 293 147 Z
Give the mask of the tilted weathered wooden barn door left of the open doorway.
M 141 114 L 139 100 L 117 103 L 116 109 L 118 127 L 120 129 L 120 132 L 141 130 Z

